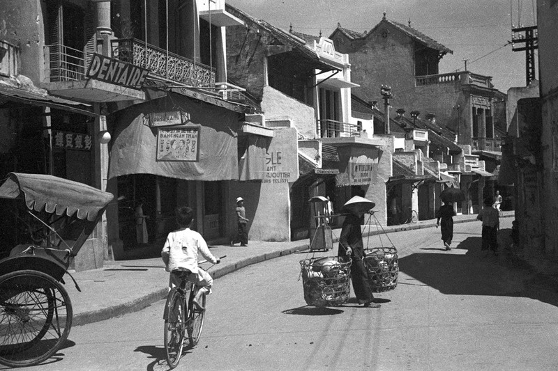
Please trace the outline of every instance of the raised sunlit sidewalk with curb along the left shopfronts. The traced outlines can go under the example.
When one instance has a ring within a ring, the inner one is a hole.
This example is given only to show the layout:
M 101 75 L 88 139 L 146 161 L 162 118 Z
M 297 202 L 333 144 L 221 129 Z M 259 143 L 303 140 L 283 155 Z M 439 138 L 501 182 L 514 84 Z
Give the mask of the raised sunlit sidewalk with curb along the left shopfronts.
M 514 212 L 504 212 L 504 217 L 512 217 Z M 476 221 L 476 214 L 454 216 L 454 223 Z M 429 228 L 436 225 L 436 220 L 418 221 L 417 223 L 403 224 L 401 226 L 384 227 L 385 232 L 398 232 Z M 375 226 L 370 232 L 365 230 L 364 235 L 375 235 L 383 232 Z M 333 241 L 338 242 L 340 229 L 333 230 Z M 263 262 L 282 255 L 308 250 L 308 239 L 294 242 L 252 242 L 247 247 L 241 246 L 210 246 L 211 253 L 220 258 L 219 265 L 209 270 L 213 278 L 219 278 L 232 271 L 247 267 L 257 262 Z M 337 244 L 334 244 L 332 255 L 337 253 Z M 538 263 L 541 267 L 543 265 Z M 208 263 L 201 265 L 209 268 Z M 169 274 L 165 272 L 163 260 L 160 258 L 140 260 L 119 260 L 105 262 L 105 267 L 72 273 L 73 278 L 80 286 L 78 292 L 73 281 L 64 276 L 66 290 L 73 303 L 73 324 L 79 326 L 91 322 L 98 322 L 126 313 L 141 310 L 146 306 L 164 299 L 167 294 Z M 557 265 L 558 267 L 558 265 Z M 546 267 L 554 269 L 553 267 Z M 558 274 L 558 269 L 556 269 Z

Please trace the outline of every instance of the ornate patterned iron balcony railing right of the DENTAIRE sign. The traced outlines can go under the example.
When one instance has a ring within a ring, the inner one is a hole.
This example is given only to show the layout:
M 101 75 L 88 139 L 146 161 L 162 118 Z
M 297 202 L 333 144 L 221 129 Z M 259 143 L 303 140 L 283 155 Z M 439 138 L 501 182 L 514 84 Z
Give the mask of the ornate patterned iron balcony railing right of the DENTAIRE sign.
M 176 81 L 185 86 L 215 87 L 214 68 L 195 63 L 188 58 L 134 38 L 112 40 L 112 56 L 145 68 L 157 77 Z

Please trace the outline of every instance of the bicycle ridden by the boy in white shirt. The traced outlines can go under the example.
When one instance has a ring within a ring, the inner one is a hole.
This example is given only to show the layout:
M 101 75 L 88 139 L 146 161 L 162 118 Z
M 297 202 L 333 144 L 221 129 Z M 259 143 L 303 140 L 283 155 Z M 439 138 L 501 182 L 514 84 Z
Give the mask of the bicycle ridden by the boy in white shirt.
M 225 258 L 222 256 L 218 262 Z M 198 264 L 206 262 L 202 260 Z M 213 265 L 211 266 L 213 267 Z M 211 268 L 210 267 L 210 268 Z M 204 326 L 205 309 L 198 309 L 194 306 L 194 298 L 199 290 L 196 287 L 190 269 L 174 269 L 172 274 L 180 279 L 180 285 L 172 287 L 167 295 L 165 303 L 165 352 L 169 368 L 175 368 L 182 356 L 184 340 L 188 335 L 190 347 L 195 347 L 202 335 Z M 190 292 L 190 295 L 188 295 Z M 206 308 L 206 294 L 203 294 L 199 304 Z

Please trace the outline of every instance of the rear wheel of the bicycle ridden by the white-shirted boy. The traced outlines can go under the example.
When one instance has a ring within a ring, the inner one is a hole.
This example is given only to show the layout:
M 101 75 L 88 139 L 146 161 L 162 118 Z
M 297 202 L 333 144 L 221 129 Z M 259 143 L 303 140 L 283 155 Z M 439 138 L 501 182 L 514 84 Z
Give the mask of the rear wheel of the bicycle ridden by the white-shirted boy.
M 175 368 L 182 356 L 184 344 L 184 301 L 179 289 L 174 287 L 165 305 L 165 351 L 169 368 Z

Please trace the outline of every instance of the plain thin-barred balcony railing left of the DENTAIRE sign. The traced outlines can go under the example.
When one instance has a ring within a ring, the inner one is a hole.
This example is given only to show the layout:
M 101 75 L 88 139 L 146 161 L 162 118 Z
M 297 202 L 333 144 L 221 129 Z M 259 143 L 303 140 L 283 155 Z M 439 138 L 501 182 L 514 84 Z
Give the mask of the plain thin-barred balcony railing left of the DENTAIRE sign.
M 86 61 L 91 61 L 91 54 L 62 44 L 45 45 L 43 50 L 47 82 L 78 81 L 85 78 Z

